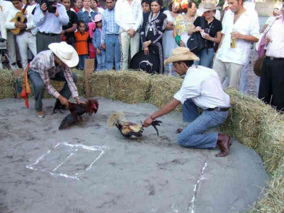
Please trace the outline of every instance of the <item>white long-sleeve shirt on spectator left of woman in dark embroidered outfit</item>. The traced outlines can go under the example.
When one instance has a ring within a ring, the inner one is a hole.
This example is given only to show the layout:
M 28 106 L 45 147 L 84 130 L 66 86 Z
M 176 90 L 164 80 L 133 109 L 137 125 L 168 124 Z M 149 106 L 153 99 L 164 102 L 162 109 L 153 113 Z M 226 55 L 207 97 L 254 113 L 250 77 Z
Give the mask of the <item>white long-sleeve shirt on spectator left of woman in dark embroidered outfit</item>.
M 115 20 L 125 31 L 131 28 L 137 31 L 143 21 L 141 0 L 133 0 L 131 4 L 128 0 L 118 0 L 116 2 Z

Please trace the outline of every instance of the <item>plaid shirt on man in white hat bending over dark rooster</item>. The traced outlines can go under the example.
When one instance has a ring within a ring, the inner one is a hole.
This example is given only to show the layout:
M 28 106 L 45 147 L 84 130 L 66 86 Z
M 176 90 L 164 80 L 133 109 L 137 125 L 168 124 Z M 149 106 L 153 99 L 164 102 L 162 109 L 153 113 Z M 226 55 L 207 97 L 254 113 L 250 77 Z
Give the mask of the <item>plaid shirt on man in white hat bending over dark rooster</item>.
M 47 89 L 48 93 L 53 95 L 55 98 L 58 98 L 60 94 L 50 84 L 49 80 L 50 78 L 54 78 L 56 73 L 63 70 L 65 79 L 67 81 L 68 87 L 72 93 L 73 98 L 78 96 L 78 91 L 73 80 L 71 68 L 68 66 L 65 66 L 64 68 L 55 66 L 54 54 L 51 50 L 45 50 L 38 53 L 30 62 L 29 68 L 39 73 L 41 79 L 45 84 L 45 89 Z

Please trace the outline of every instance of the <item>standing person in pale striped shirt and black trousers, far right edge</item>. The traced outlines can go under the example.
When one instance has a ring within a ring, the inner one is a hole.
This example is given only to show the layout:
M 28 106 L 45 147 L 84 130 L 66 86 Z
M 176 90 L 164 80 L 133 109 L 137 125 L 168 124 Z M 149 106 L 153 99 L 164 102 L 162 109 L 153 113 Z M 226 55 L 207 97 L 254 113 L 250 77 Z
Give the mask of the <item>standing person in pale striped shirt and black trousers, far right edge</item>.
M 282 17 L 266 35 L 266 58 L 263 62 L 259 98 L 284 112 L 284 3 Z

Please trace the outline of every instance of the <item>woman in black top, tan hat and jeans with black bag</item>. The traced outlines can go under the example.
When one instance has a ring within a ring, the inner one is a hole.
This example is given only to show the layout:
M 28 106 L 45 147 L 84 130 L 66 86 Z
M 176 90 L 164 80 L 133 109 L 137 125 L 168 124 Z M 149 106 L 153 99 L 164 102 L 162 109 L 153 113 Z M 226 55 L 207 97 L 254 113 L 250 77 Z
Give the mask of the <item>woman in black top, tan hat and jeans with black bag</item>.
M 205 48 L 197 54 L 200 61 L 194 61 L 195 65 L 211 68 L 214 58 L 214 43 L 220 43 L 222 37 L 222 23 L 215 18 L 215 13 L 215 2 L 206 1 L 203 7 L 204 17 L 197 17 L 193 23 L 195 28 L 193 28 L 192 32 L 199 31 L 205 42 Z M 204 29 L 200 27 L 202 21 L 201 19 L 205 19 Z

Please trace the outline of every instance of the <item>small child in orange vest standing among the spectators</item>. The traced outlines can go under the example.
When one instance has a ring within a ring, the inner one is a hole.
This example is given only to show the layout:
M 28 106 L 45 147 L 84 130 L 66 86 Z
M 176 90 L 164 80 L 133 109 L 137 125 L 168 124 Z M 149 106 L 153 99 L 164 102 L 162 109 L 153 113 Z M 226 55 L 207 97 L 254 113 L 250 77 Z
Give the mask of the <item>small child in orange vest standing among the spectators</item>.
M 75 46 L 79 55 L 79 69 L 83 70 L 85 66 L 85 59 L 88 58 L 88 38 L 89 33 L 86 32 L 85 21 L 79 20 L 78 31 L 74 33 Z

